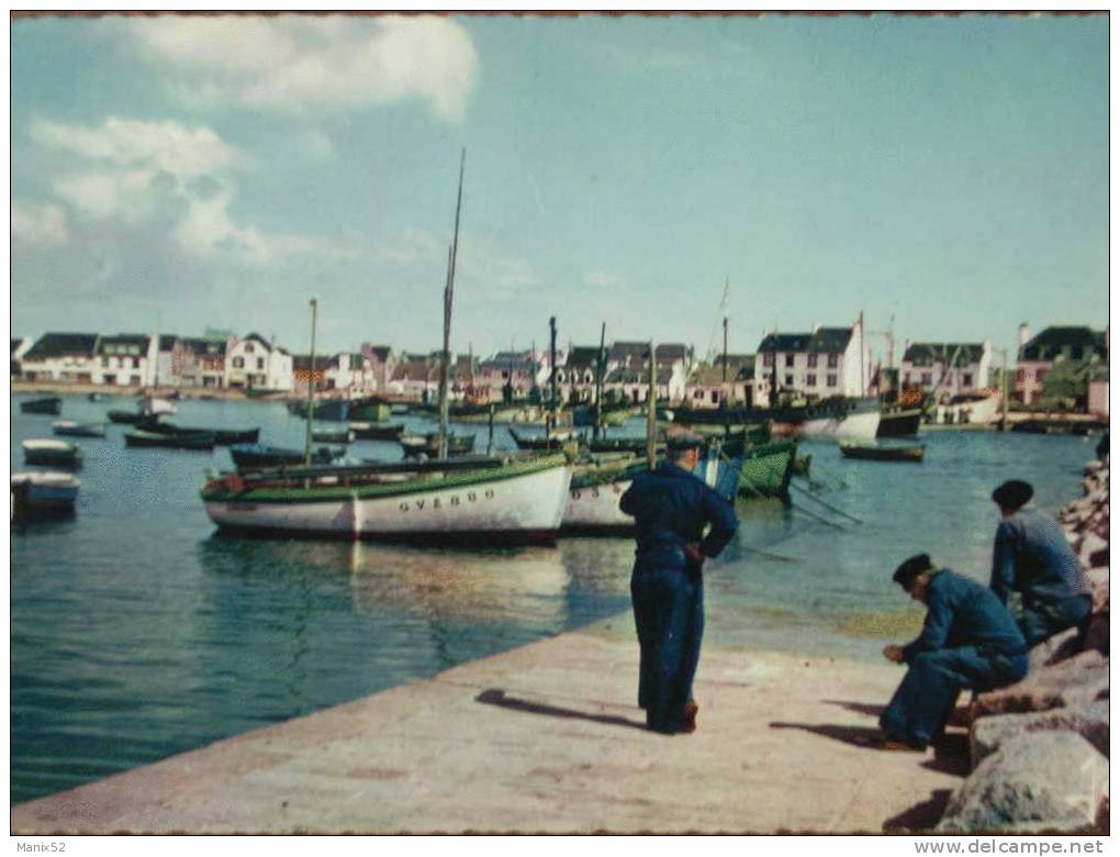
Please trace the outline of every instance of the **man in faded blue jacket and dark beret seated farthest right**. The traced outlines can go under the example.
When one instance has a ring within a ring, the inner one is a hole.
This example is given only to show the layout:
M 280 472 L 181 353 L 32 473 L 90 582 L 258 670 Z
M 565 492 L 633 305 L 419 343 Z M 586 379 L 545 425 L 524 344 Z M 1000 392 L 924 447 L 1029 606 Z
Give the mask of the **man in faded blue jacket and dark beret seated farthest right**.
M 1019 628 L 1030 646 L 1082 625 L 1093 609 L 1089 578 L 1057 521 L 1024 509 L 1034 493 L 1019 479 L 991 493 L 1004 519 L 996 530 L 991 590 L 1004 604 L 1012 590 L 1021 594 Z

